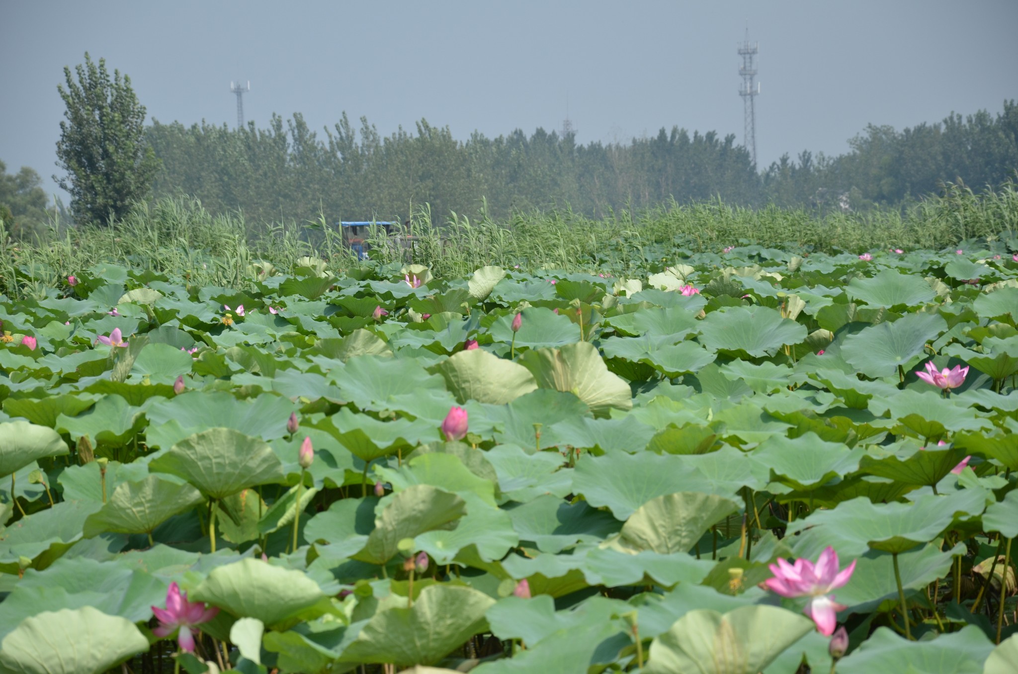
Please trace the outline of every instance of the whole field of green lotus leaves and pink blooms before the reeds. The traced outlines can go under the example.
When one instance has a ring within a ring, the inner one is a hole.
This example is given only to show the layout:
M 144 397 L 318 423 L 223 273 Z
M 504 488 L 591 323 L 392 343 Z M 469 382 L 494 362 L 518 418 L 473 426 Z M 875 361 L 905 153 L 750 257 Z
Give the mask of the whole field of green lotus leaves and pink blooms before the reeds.
M 0 295 L 0 672 L 1018 671 L 1015 246 L 647 260 Z

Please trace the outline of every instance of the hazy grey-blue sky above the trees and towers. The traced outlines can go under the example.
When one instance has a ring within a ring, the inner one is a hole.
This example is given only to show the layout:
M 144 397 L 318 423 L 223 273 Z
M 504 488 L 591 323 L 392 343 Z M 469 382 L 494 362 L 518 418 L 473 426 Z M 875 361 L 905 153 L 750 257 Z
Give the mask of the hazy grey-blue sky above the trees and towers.
M 244 114 L 342 111 L 383 134 L 425 117 L 466 138 L 538 126 L 626 141 L 662 126 L 736 133 L 736 46 L 759 42 L 761 166 L 841 154 L 865 124 L 897 128 L 1018 98 L 1016 0 L 668 2 L 124 2 L 0 0 L 0 160 L 49 176 L 63 66 L 104 57 L 149 115 L 236 123 Z

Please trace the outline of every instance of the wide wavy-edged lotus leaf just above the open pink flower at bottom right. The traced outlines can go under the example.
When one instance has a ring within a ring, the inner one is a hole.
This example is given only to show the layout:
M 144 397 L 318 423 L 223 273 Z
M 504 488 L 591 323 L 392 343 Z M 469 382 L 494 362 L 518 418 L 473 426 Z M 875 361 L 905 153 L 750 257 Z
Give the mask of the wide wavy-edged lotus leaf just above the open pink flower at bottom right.
M 984 507 L 984 496 L 977 490 L 927 494 L 911 503 L 878 504 L 860 497 L 790 522 L 788 535 L 801 532 L 794 545 L 799 557 L 815 558 L 829 545 L 846 558 L 858 557 L 867 548 L 902 553 L 936 539 L 956 516 L 977 516 Z

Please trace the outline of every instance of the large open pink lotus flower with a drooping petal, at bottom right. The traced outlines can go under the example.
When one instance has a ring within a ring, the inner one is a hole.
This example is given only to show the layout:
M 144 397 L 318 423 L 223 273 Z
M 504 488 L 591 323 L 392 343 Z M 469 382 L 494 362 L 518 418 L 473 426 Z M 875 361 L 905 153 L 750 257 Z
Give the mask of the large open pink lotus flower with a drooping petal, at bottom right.
M 779 558 L 777 564 L 771 564 L 773 578 L 764 581 L 767 587 L 782 597 L 808 597 L 809 602 L 802 609 L 813 622 L 821 634 L 830 636 L 838 624 L 838 611 L 845 606 L 834 601 L 832 589 L 841 587 L 852 577 L 855 571 L 855 561 L 839 571 L 838 553 L 828 546 L 821 553 L 814 566 L 808 559 L 799 558 L 795 564 L 789 564 Z

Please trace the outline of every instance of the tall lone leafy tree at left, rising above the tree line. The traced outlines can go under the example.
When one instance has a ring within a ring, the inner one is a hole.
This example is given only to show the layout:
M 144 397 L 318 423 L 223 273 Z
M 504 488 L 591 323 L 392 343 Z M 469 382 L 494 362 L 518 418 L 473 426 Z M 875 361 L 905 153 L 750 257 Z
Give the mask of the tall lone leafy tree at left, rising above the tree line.
M 57 142 L 57 164 L 67 174 L 58 184 L 70 193 L 77 222 L 106 223 L 149 196 L 159 160 L 146 143 L 145 106 L 130 77 L 114 70 L 110 79 L 106 60 L 97 65 L 88 53 L 74 73 L 76 81 L 64 67 L 66 89 L 57 88 L 67 106 Z

